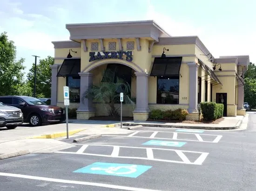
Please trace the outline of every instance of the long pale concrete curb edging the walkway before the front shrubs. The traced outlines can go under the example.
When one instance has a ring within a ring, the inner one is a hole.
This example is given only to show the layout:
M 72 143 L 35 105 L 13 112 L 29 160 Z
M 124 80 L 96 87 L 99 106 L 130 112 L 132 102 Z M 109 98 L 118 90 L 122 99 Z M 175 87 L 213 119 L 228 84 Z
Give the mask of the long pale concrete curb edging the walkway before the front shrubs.
M 183 125 L 166 125 L 166 124 L 154 124 L 154 123 L 123 123 L 124 126 L 138 126 L 141 125 L 143 127 L 168 127 L 168 128 L 187 128 L 187 129 L 205 129 L 205 130 L 230 130 L 230 129 L 238 129 L 242 124 L 243 120 L 240 120 L 236 123 L 235 126 L 230 127 L 204 127 L 204 126 L 183 126 Z

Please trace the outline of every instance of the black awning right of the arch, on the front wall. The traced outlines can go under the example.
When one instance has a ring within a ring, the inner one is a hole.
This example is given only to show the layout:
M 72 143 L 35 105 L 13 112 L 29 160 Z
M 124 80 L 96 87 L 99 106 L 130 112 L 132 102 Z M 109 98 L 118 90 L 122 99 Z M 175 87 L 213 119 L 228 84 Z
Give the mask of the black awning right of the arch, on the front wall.
M 150 76 L 178 76 L 182 57 L 155 57 Z

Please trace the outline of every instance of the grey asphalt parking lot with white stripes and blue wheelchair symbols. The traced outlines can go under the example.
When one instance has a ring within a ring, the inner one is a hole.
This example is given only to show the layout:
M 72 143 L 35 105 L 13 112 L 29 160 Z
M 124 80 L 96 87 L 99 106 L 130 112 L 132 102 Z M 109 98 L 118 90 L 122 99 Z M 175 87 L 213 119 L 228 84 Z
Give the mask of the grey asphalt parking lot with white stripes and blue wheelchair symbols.
M 208 131 L 142 127 L 54 153 L 0 160 L 5 191 L 253 191 L 255 125 Z

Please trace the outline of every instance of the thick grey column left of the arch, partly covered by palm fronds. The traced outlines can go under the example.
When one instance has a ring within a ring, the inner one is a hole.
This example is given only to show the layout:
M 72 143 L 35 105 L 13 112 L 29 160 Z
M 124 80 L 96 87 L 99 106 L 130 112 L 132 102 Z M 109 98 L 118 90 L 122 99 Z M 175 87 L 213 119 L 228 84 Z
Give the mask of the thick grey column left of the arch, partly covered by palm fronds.
M 77 119 L 88 120 L 90 117 L 95 116 L 95 109 L 93 107 L 92 98 L 83 98 L 86 90 L 93 84 L 93 74 L 79 73 L 80 79 L 80 104 L 76 111 Z

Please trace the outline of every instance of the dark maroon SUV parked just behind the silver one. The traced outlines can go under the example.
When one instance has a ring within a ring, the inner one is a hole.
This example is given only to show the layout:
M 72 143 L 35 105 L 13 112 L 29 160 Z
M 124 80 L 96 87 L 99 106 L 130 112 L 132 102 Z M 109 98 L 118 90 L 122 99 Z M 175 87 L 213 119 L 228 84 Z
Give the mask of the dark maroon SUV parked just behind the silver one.
M 47 105 L 34 97 L 0 96 L 0 102 L 20 108 L 24 122 L 29 122 L 31 126 L 40 126 L 42 123 L 59 123 L 66 120 L 63 108 Z

